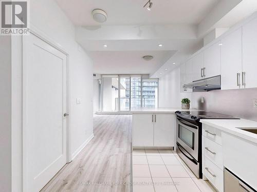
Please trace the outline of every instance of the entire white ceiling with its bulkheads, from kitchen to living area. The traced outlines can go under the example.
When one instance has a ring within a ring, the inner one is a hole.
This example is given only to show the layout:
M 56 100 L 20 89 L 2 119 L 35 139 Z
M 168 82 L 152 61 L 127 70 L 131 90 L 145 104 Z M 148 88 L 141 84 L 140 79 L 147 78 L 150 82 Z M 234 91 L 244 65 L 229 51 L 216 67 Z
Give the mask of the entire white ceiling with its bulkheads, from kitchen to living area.
M 199 50 L 212 29 L 229 28 L 257 7 L 256 0 L 151 0 L 148 11 L 147 0 L 55 1 L 77 26 L 76 40 L 93 60 L 94 73 L 153 77 Z M 91 15 L 97 8 L 108 15 L 103 24 Z M 155 58 L 145 62 L 143 55 Z

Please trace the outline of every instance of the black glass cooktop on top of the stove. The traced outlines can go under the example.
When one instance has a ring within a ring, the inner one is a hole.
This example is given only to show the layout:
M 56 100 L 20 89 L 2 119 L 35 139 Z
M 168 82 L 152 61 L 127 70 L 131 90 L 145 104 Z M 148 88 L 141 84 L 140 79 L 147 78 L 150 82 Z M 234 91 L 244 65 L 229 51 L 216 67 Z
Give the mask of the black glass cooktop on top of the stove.
M 224 115 L 220 113 L 214 112 L 206 112 L 206 111 L 185 111 L 181 112 L 181 114 L 186 113 L 191 116 L 196 116 L 200 119 L 238 119 L 236 117 L 232 117 L 230 115 Z

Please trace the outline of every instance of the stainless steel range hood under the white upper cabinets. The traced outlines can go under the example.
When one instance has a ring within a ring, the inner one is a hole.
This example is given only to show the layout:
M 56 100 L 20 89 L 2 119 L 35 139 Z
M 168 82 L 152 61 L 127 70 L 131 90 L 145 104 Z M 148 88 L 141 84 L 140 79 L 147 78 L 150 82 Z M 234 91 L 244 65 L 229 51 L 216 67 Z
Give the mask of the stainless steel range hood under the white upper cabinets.
M 206 78 L 206 79 L 200 79 L 188 84 L 184 84 L 183 88 L 193 89 L 193 92 L 221 89 L 221 75 Z

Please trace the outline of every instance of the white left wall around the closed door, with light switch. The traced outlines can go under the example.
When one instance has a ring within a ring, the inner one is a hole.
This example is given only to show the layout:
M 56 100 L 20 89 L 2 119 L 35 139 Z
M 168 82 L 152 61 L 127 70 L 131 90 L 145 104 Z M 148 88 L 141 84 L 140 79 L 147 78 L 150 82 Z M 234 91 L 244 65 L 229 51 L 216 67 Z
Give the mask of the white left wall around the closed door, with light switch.
M 74 157 L 93 135 L 93 63 L 75 27 L 53 0 L 30 1 L 30 28 L 69 54 L 70 147 Z M 12 37 L 12 191 L 22 191 L 21 38 Z M 81 104 L 76 99 L 81 98 Z

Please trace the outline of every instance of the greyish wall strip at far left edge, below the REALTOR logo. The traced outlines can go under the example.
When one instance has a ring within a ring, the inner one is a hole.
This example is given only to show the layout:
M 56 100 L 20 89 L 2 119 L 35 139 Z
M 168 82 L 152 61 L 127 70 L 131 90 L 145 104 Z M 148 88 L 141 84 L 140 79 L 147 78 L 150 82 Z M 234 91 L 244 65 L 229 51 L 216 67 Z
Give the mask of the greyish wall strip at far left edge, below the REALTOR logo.
M 11 37 L 0 36 L 0 191 L 11 191 Z

